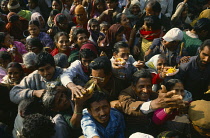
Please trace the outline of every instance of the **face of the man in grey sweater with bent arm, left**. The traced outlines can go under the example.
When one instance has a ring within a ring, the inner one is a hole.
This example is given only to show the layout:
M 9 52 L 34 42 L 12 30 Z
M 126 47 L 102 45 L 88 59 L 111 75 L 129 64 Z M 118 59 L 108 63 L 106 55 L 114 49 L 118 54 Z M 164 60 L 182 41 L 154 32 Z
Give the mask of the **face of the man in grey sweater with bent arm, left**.
M 47 64 L 43 67 L 39 67 L 38 68 L 38 73 L 43 77 L 45 78 L 46 80 L 51 80 L 54 73 L 55 73 L 55 67 L 50 65 L 50 64 Z

